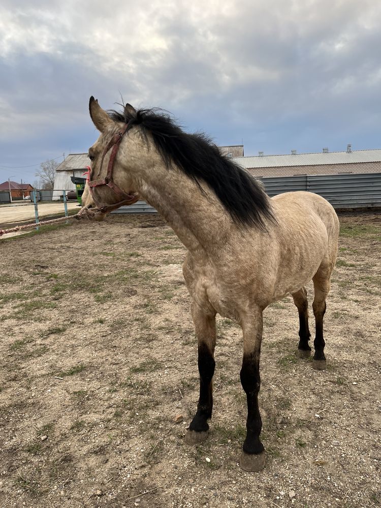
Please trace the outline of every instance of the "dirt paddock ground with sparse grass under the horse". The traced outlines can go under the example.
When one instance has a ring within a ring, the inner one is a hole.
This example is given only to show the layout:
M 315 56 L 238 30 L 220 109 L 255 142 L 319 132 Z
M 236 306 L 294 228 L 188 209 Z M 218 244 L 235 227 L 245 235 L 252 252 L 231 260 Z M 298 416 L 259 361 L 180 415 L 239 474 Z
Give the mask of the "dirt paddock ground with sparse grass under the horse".
M 295 357 L 291 297 L 265 311 L 260 473 L 238 466 L 246 404 L 229 320 L 209 439 L 184 442 L 197 343 L 185 250 L 160 217 L 0 240 L 0 506 L 380 506 L 380 219 L 340 214 L 326 371 Z

